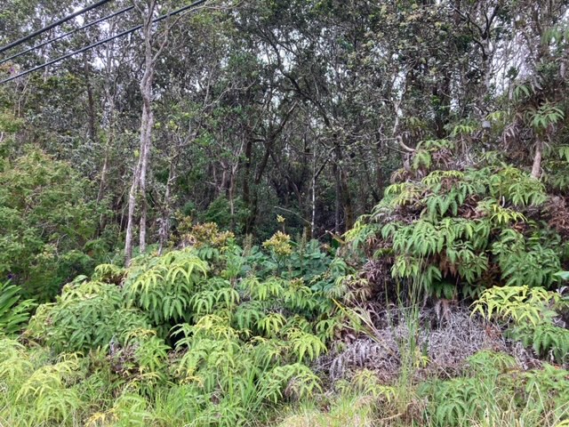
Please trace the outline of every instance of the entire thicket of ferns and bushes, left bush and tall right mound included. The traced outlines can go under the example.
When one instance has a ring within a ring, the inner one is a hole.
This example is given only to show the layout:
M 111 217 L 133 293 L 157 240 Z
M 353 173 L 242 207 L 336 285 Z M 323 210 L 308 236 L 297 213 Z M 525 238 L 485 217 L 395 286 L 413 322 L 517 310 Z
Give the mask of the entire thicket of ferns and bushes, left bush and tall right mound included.
M 4 160 L 0 422 L 564 425 L 563 188 L 458 151 L 422 142 L 338 249 L 180 214 L 128 267 L 69 165 Z

